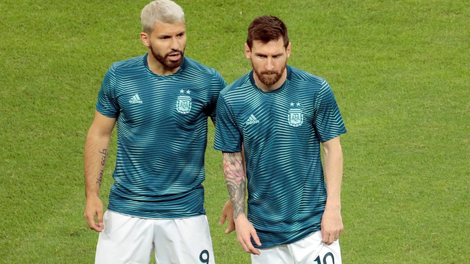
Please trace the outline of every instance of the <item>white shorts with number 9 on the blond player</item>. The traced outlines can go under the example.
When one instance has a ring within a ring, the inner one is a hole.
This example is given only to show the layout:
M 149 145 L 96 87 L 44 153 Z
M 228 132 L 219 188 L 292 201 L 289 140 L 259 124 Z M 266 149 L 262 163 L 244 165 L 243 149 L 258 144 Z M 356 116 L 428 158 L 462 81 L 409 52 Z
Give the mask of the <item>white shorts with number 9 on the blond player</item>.
M 215 264 L 205 215 L 184 219 L 141 219 L 104 212 L 95 264 Z

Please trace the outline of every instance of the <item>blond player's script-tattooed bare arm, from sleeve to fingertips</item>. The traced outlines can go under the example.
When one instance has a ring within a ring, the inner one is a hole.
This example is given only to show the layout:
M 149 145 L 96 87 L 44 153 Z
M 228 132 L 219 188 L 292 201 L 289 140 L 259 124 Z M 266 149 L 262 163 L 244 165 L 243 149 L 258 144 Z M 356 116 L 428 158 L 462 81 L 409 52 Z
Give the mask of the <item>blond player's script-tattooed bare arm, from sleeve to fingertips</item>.
M 93 123 L 88 130 L 85 142 L 85 213 L 84 217 L 91 229 L 101 232 L 103 225 L 103 204 L 100 188 L 104 167 L 108 158 L 111 132 L 116 118 L 109 118 L 95 110 Z M 95 222 L 95 217 L 97 222 Z

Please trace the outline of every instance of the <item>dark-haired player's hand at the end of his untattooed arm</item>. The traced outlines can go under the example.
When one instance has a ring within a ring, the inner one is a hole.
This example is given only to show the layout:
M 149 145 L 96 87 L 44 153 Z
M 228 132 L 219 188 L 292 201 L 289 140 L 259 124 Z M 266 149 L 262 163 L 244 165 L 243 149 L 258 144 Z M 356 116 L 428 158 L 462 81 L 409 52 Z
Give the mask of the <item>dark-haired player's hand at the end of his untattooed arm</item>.
M 338 237 L 343 234 L 343 228 L 341 211 L 325 209 L 321 217 L 322 241 L 327 245 L 331 245 L 333 241 L 337 241 Z

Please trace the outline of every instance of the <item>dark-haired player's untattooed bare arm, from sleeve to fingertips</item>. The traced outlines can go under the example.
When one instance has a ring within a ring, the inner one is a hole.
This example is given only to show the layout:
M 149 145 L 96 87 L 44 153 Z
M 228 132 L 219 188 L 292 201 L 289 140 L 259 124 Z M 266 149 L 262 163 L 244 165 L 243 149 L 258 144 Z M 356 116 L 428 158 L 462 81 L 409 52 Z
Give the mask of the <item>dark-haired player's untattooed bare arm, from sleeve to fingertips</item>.
M 324 173 L 327 189 L 325 212 L 321 219 L 321 234 L 327 245 L 343 233 L 341 218 L 341 182 L 343 180 L 343 152 L 339 136 L 323 142 Z

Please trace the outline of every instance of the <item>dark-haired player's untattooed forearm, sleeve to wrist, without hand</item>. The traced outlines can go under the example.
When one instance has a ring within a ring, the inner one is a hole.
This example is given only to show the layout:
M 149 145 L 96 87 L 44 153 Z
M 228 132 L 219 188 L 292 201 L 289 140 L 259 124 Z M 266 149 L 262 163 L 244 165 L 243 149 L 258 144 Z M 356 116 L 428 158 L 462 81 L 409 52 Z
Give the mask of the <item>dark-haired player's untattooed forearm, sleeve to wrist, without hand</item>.
M 343 152 L 338 143 L 324 150 L 324 173 L 327 189 L 326 208 L 341 210 L 341 182 L 343 180 Z

